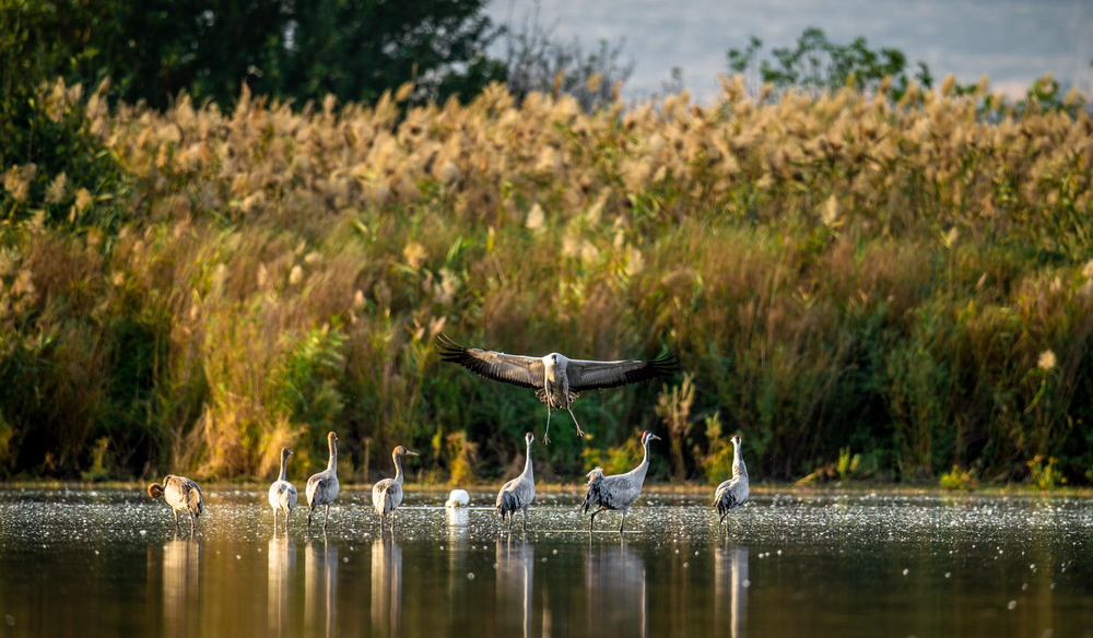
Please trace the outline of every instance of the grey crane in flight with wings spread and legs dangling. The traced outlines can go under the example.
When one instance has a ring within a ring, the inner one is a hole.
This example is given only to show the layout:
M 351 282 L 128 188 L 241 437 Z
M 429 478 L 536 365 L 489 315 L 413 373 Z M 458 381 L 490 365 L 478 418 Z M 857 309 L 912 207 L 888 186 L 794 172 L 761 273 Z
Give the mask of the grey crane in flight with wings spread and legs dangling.
M 556 352 L 533 357 L 463 347 L 444 334 L 438 335 L 437 341 L 437 352 L 443 361 L 459 364 L 494 381 L 534 390 L 536 397 L 546 404 L 544 444 L 550 442 L 551 410 L 567 411 L 573 417 L 573 424 L 577 426 L 577 435 L 585 436 L 571 410 L 581 391 L 646 381 L 670 375 L 679 370 L 680 365 L 679 358 L 673 354 L 651 361 L 592 362 L 571 359 Z

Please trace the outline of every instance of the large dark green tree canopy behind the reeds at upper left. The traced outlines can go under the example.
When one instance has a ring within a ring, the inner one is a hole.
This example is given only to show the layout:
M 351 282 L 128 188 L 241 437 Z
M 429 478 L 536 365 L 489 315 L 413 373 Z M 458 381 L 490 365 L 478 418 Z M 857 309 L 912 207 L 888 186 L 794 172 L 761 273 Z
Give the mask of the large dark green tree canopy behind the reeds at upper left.
M 503 79 L 484 57 L 484 0 L 11 0 L 5 28 L 34 42 L 39 78 L 95 83 L 163 108 L 180 91 L 222 107 L 244 83 L 280 99 L 373 102 L 416 80 L 422 97 L 469 96 Z M 10 44 L 10 43 L 8 43 Z

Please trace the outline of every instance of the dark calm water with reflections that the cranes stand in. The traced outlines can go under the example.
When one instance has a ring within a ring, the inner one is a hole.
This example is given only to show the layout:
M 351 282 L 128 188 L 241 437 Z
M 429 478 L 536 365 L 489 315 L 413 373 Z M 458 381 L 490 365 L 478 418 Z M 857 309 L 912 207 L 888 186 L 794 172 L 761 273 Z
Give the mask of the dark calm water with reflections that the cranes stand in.
M 577 494 L 509 536 L 411 492 L 392 537 L 348 491 L 308 540 L 205 497 L 191 540 L 137 491 L 0 491 L 0 636 L 1093 636 L 1086 499 L 753 495 L 718 535 L 646 495 L 589 537 Z

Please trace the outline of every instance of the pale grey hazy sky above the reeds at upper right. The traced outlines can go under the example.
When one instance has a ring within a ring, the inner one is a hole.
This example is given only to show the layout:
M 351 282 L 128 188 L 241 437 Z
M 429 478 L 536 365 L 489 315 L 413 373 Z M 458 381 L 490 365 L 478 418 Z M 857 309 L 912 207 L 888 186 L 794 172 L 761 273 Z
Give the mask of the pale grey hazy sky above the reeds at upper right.
M 534 0 L 493 0 L 490 16 L 519 28 Z M 1047 71 L 1060 82 L 1093 90 L 1093 0 L 541 0 L 541 24 L 586 50 L 600 39 L 626 38 L 635 61 L 626 97 L 662 93 L 672 67 L 698 99 L 717 94 L 726 51 L 750 35 L 764 49 L 792 46 L 809 26 L 849 44 L 865 36 L 872 49 L 894 47 L 925 61 L 938 81 L 955 73 L 974 82 L 986 73 L 995 91 L 1020 96 Z

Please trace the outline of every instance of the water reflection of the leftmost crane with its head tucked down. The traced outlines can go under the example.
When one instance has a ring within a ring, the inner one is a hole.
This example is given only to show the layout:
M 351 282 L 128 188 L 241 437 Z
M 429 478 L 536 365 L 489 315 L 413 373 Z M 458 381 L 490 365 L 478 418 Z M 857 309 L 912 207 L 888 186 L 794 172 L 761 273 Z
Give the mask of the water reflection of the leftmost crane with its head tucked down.
M 163 546 L 164 635 L 201 634 L 201 537 L 168 541 Z

